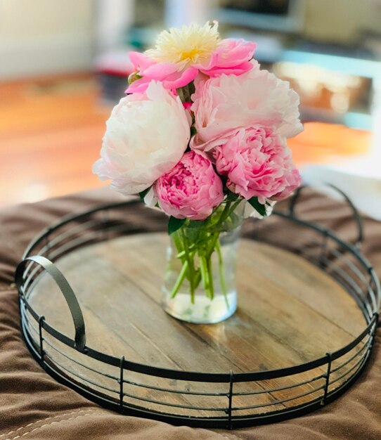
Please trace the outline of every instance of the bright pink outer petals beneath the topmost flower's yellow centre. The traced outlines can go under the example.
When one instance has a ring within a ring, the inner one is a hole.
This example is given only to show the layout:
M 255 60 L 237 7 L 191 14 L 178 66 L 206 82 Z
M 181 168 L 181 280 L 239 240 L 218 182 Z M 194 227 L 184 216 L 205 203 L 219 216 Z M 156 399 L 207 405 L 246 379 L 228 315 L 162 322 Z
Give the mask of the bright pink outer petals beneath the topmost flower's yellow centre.
M 149 82 L 162 82 L 165 89 L 179 89 L 197 77 L 199 72 L 209 77 L 226 75 L 242 75 L 251 70 L 250 59 L 254 55 L 256 45 L 243 39 L 223 39 L 207 63 L 196 63 L 183 66 L 183 63 L 159 63 L 145 53 L 130 52 L 129 58 L 134 68 L 143 78 L 137 79 L 126 90 L 127 93 L 145 91 Z

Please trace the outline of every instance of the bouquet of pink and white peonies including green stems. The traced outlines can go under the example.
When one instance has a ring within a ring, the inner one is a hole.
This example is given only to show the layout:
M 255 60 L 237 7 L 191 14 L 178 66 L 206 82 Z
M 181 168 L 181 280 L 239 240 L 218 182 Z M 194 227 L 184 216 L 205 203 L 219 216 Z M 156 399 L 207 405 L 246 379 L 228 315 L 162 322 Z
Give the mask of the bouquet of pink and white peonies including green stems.
M 259 68 L 254 43 L 220 39 L 217 27 L 163 31 L 155 48 L 130 53 L 136 72 L 93 166 L 169 216 L 181 262 L 172 297 L 187 280 L 192 302 L 199 285 L 214 297 L 212 255 L 226 291 L 219 236 L 238 211 L 266 216 L 300 183 L 286 143 L 302 131 L 297 93 Z

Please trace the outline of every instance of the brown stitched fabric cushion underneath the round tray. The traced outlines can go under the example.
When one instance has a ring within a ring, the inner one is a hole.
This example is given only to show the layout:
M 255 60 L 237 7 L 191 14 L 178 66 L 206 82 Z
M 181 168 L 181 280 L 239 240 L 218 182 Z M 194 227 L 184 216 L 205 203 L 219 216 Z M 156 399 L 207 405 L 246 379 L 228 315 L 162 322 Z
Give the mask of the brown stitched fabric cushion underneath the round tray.
M 231 431 L 173 427 L 118 415 L 58 384 L 40 368 L 22 340 L 15 266 L 34 235 L 60 216 L 100 202 L 122 200 L 96 190 L 19 205 L 0 212 L 0 440 L 6 439 L 381 439 L 380 331 L 366 369 L 349 391 L 321 410 L 273 425 Z M 307 191 L 298 205 L 305 219 L 320 221 L 343 238 L 356 235 L 350 211 Z M 381 275 L 381 224 L 366 219 L 363 253 Z

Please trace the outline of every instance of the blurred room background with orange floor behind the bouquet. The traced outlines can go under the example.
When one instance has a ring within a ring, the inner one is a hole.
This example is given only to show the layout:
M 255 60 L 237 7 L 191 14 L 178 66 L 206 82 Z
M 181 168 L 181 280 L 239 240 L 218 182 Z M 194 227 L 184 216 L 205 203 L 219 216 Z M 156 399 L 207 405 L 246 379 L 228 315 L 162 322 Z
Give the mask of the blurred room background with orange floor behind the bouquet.
M 304 181 L 381 219 L 381 0 L 0 0 L 0 207 L 105 185 L 91 167 L 128 52 L 207 20 L 299 93 Z

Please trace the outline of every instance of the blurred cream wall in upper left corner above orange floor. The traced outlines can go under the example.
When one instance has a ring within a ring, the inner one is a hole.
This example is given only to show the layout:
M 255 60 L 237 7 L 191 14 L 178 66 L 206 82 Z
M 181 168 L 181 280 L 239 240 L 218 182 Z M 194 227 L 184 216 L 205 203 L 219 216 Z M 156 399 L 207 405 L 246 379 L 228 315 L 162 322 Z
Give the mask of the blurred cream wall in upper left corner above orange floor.
M 0 79 L 86 70 L 96 2 L 0 0 Z

